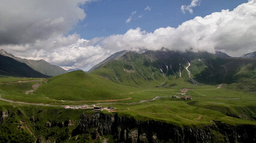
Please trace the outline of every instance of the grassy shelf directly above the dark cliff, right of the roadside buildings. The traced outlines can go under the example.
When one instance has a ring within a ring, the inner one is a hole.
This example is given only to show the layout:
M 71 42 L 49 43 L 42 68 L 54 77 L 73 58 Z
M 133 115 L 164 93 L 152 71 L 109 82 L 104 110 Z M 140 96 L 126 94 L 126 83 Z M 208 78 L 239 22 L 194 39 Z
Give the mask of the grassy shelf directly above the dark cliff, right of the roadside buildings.
M 172 98 L 161 98 L 157 101 L 144 102 L 134 105 L 115 105 L 119 114 L 135 117 L 138 120 L 159 120 L 174 125 L 201 125 L 212 124 L 211 121 L 221 121 L 231 124 L 254 124 L 250 120 L 237 119 L 227 116 L 218 110 L 206 107 L 189 105 L 188 101 L 173 100 Z M 209 105 L 209 107 L 215 107 Z M 255 113 L 254 113 L 255 114 Z M 198 121 L 198 117 L 201 119 Z

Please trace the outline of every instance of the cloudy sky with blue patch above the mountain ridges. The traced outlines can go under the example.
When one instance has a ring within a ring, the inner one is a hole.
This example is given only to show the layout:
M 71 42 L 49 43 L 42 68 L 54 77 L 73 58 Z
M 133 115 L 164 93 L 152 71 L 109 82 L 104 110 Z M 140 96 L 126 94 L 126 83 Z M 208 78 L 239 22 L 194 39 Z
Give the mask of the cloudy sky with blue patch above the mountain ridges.
M 138 49 L 256 51 L 256 0 L 1 0 L 0 48 L 89 70 Z

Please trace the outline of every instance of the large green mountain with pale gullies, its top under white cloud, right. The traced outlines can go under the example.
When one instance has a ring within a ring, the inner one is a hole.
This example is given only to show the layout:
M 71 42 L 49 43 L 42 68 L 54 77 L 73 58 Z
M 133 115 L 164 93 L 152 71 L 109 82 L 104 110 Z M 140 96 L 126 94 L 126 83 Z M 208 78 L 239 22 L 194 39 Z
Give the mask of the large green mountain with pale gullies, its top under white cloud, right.
M 166 87 L 182 82 L 218 84 L 255 79 L 255 64 L 254 59 L 163 49 L 142 54 L 127 52 L 91 73 L 125 85 Z

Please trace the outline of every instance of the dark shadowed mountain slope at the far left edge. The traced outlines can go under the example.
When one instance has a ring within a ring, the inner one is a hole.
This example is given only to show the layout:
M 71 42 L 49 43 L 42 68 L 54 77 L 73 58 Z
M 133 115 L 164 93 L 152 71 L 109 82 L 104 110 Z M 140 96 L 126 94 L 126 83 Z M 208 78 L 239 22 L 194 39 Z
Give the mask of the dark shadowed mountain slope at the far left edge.
M 3 55 L 0 55 L 0 75 L 18 77 L 50 77 L 33 70 L 24 63 L 20 63 L 13 58 L 5 57 Z

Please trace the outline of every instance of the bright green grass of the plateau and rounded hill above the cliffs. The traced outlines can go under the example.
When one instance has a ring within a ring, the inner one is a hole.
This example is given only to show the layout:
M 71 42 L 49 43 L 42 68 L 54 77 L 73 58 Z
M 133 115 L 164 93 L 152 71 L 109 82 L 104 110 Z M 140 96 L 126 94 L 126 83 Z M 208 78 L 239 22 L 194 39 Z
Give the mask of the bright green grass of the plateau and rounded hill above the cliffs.
M 151 86 L 143 88 L 118 84 L 95 74 L 86 74 L 83 71 L 73 71 L 44 79 L 43 85 L 37 91 L 26 95 L 25 92 L 32 89 L 32 85 L 41 83 L 41 81 L 6 83 L 16 80 L 21 79 L 0 79 L 2 98 L 53 105 L 95 104 L 102 102 L 97 100 L 131 98 L 124 101 L 109 101 L 114 104 L 103 105 L 115 107 L 119 114 L 134 116 L 141 120 L 162 120 L 179 125 L 210 124 L 211 120 L 255 124 L 255 92 L 239 91 L 235 85 L 232 85 L 233 88 L 230 88 L 231 85 L 222 85 L 220 89 L 217 89 L 218 85 L 192 85 L 186 80 L 176 79 L 172 81 L 176 85 L 168 88 L 153 88 Z M 164 97 L 155 101 L 138 103 L 143 100 L 152 100 L 155 97 L 173 95 L 181 97 L 182 95 L 179 93 L 183 88 L 191 89 L 186 92 L 186 95 L 192 97 L 191 101 Z M 23 105 L 5 101 L 1 101 L 0 104 L 1 106 Z M 197 121 L 200 116 L 202 116 L 201 120 Z

